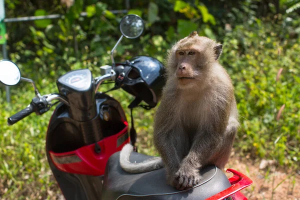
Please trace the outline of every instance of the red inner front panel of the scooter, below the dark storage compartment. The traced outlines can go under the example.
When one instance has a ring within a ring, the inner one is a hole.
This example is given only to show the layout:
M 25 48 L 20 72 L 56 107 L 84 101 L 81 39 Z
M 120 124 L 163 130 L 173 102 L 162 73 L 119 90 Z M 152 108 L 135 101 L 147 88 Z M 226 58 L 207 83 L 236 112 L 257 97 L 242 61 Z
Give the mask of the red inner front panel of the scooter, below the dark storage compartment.
M 86 175 L 103 175 L 108 158 L 113 153 L 122 149 L 129 143 L 128 123 L 124 121 L 125 127 L 117 134 L 108 136 L 98 141 L 101 151 L 94 151 L 95 144 L 82 146 L 76 150 L 56 153 L 49 151 L 54 165 L 61 171 Z M 127 134 L 127 135 L 126 135 Z M 117 146 L 117 140 L 125 139 Z M 58 161 L 60 160 L 60 161 Z

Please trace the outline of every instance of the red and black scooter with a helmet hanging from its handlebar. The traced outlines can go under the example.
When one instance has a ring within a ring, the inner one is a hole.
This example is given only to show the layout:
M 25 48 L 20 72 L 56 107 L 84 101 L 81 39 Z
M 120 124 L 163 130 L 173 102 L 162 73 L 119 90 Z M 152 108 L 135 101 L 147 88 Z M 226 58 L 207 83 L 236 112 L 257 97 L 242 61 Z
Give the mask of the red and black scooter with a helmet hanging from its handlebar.
M 227 178 L 216 166 L 206 166 L 200 172 L 201 182 L 183 191 L 166 184 L 164 168 L 136 174 L 122 170 L 119 151 L 126 143 L 134 145 L 136 139 L 132 109 L 150 109 L 157 104 L 164 85 L 164 66 L 149 56 L 115 63 L 113 52 L 118 43 L 123 37 L 139 37 L 144 23 L 139 16 L 129 14 L 121 19 L 119 28 L 122 35 L 111 50 L 112 65 L 101 66 L 101 76 L 95 78 L 89 69 L 61 75 L 56 81 L 58 93 L 41 95 L 33 80 L 21 77 L 15 63 L 0 60 L 3 84 L 27 81 L 36 94 L 27 107 L 7 119 L 8 125 L 32 112 L 43 114 L 57 104 L 48 124 L 46 155 L 65 199 L 247 199 L 240 190 L 252 181 L 234 169 L 227 169 L 233 173 Z M 98 92 L 105 81 L 114 83 L 112 89 L 122 88 L 135 96 L 128 106 L 130 131 L 120 103 L 106 92 Z M 146 105 L 140 104 L 142 101 Z M 130 161 L 140 162 L 149 157 L 132 152 Z

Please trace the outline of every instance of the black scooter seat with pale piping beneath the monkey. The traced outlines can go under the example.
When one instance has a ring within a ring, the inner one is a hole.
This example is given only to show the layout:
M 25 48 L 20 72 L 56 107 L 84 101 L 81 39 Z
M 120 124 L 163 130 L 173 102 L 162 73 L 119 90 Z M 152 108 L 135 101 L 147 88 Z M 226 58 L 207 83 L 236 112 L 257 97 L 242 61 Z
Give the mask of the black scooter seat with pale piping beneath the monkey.
M 131 162 L 141 162 L 151 156 L 132 152 Z M 176 190 L 166 184 L 165 169 L 145 173 L 128 173 L 119 163 L 119 152 L 107 161 L 102 199 L 205 199 L 231 186 L 226 175 L 216 166 L 210 165 L 200 171 L 201 182 L 187 190 Z

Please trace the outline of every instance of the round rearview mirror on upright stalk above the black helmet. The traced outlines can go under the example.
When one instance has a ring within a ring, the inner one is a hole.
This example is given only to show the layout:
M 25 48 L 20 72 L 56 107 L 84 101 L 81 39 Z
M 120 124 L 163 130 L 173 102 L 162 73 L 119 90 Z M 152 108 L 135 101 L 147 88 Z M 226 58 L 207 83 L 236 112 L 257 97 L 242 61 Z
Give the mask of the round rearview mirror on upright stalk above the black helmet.
M 135 14 L 128 14 L 120 21 L 120 31 L 124 37 L 129 39 L 139 37 L 143 29 L 143 20 Z

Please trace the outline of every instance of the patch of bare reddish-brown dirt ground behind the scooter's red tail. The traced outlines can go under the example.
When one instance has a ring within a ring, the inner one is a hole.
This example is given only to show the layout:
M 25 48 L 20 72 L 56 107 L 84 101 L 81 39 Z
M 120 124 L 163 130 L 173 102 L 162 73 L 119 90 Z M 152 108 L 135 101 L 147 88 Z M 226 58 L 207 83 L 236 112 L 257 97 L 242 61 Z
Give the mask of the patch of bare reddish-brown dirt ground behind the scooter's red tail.
M 235 169 L 253 181 L 252 185 L 242 190 L 249 200 L 300 200 L 300 171 L 284 171 L 274 165 L 259 169 L 260 162 L 261 160 L 256 161 L 231 155 L 225 168 Z M 232 173 L 226 175 L 230 177 Z

